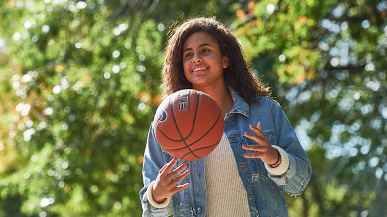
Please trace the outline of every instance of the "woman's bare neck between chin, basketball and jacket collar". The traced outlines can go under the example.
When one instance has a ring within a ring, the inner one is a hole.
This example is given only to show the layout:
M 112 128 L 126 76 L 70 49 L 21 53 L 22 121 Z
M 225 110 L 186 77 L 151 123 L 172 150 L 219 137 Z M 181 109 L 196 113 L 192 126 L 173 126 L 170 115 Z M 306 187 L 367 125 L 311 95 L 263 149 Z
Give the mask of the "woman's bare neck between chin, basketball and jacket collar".
M 223 84 L 219 87 L 193 87 L 195 90 L 199 90 L 210 95 L 216 103 L 218 103 L 220 109 L 223 112 L 223 117 L 227 112 L 231 111 L 233 108 L 234 102 L 231 97 L 230 91 L 227 89 L 226 85 Z

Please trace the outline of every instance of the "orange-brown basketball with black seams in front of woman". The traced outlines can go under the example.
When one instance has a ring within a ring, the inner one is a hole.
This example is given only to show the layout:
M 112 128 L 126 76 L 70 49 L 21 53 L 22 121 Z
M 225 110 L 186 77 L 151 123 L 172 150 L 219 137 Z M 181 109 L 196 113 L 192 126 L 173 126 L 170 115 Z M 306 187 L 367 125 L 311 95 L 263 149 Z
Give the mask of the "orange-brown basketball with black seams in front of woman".
M 157 108 L 153 130 L 161 147 L 173 157 L 194 161 L 207 156 L 223 135 L 223 114 L 208 94 L 177 91 Z

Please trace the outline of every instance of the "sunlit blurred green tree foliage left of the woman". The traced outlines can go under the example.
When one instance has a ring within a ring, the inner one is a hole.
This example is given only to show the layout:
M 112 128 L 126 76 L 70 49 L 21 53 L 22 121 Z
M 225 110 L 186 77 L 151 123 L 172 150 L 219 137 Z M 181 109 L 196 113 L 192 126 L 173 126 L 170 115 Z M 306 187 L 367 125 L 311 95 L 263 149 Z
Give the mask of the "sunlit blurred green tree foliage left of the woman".
M 46 2 L 1 6 L 1 197 L 26 216 L 138 216 L 165 33 L 101 1 Z

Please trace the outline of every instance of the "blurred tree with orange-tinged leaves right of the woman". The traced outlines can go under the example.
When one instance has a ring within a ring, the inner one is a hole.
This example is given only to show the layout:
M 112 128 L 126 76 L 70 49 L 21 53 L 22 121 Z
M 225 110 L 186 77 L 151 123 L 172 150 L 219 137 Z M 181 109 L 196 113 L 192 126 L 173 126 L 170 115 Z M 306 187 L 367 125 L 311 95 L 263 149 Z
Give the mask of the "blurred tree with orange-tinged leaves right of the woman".
M 384 216 L 386 1 L 251 1 L 233 22 L 312 163 L 291 216 Z M 277 82 L 279 81 L 279 82 Z

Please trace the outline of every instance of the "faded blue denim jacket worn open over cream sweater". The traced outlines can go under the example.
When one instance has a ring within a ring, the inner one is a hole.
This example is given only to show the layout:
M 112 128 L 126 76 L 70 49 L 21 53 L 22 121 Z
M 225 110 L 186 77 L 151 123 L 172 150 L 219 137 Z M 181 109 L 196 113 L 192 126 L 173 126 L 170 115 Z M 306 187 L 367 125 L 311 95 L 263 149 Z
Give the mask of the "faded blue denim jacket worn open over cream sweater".
M 248 105 L 235 91 L 231 90 L 234 106 L 224 118 L 224 132 L 233 150 L 239 175 L 246 189 L 251 217 L 288 216 L 284 191 L 292 195 L 301 194 L 311 177 L 311 165 L 296 137 L 281 106 L 268 97 L 258 97 L 253 105 Z M 259 158 L 245 158 L 243 154 L 253 151 L 242 149 L 243 144 L 256 145 L 254 140 L 244 136 L 251 132 L 249 124 L 261 123 L 262 130 L 271 145 L 281 147 L 289 156 L 287 171 L 279 176 L 267 172 Z M 183 161 L 172 169 L 187 163 L 190 174 L 178 185 L 190 183 L 190 187 L 177 192 L 167 207 L 156 208 L 149 203 L 147 187 L 156 179 L 164 164 L 172 160 L 157 143 L 152 127 L 144 153 L 143 181 L 140 191 L 143 217 L 204 217 L 206 211 L 206 186 L 204 179 L 204 158 Z

